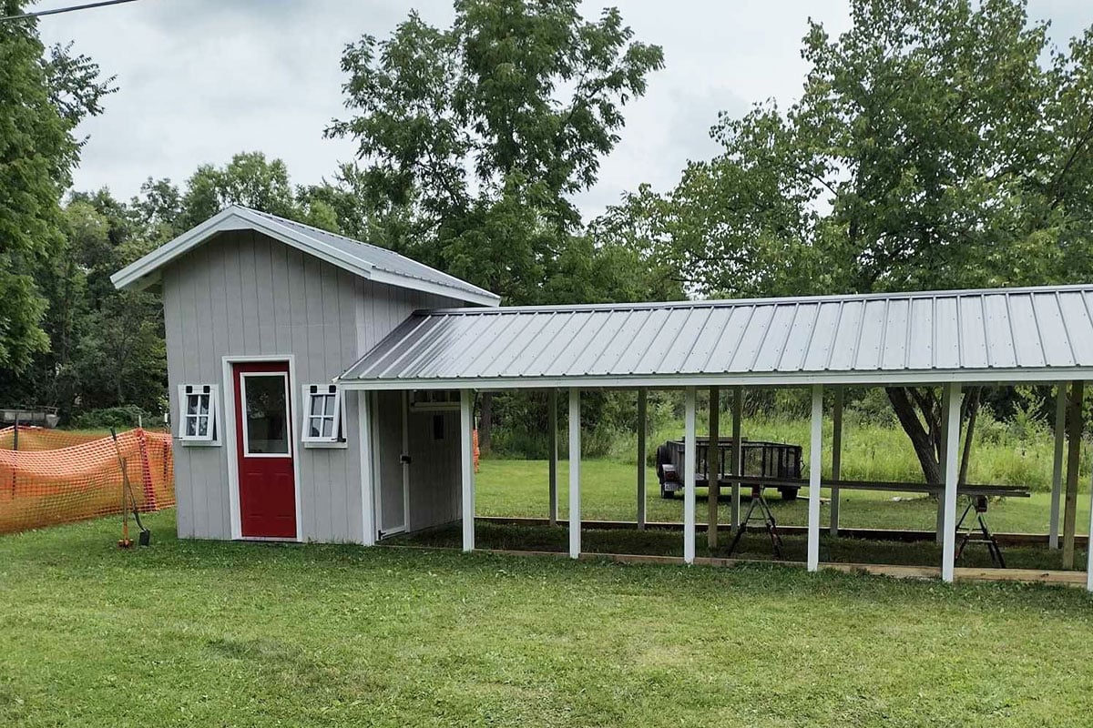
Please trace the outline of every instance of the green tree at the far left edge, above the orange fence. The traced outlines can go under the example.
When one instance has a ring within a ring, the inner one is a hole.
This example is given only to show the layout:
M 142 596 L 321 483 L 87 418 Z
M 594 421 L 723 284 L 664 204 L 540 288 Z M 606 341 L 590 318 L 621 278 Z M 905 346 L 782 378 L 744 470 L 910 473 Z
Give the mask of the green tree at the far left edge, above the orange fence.
M 3 0 L 4 15 L 22 2 Z M 82 142 L 81 119 L 113 88 L 69 47 L 48 51 L 33 21 L 0 24 L 0 369 L 25 369 L 49 347 L 34 272 L 63 246 L 60 198 Z

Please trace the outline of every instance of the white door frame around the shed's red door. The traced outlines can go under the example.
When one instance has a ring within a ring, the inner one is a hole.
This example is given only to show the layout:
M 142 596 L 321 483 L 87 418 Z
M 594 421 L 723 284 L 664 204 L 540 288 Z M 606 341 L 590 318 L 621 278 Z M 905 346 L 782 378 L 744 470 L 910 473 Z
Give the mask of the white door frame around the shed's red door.
M 289 397 L 289 447 L 293 453 L 292 458 L 292 477 L 293 486 L 296 490 L 296 538 L 268 538 L 265 536 L 244 536 L 243 535 L 243 518 L 239 509 L 239 451 L 238 451 L 238 434 L 236 432 L 237 423 L 235 421 L 235 377 L 233 375 L 233 365 L 237 363 L 282 363 L 286 362 L 289 365 L 289 392 L 286 396 Z M 299 442 L 299 427 L 301 418 L 296 416 L 295 408 L 292 406 L 292 393 L 298 387 L 296 386 L 296 358 L 291 354 L 274 354 L 274 355 L 256 355 L 256 356 L 225 356 L 221 359 L 221 366 L 223 367 L 224 375 L 224 444 L 227 445 L 228 442 L 231 446 L 227 447 L 227 496 L 228 496 L 228 509 L 231 511 L 232 521 L 232 538 L 234 540 L 255 540 L 255 541 L 303 541 L 304 540 L 304 510 L 303 510 L 303 499 L 301 498 L 299 490 L 299 449 L 296 447 L 296 443 Z M 232 402 L 227 402 L 227 393 L 232 395 Z M 231 406 L 228 406 L 231 405 Z M 230 438 L 230 441 L 226 440 Z

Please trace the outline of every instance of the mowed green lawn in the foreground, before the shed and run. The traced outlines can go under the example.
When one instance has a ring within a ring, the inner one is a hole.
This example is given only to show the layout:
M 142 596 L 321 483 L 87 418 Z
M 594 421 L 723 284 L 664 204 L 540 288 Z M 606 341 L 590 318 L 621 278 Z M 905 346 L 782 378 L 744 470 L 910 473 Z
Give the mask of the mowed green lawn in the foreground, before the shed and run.
M 3 726 L 1088 726 L 1093 600 L 776 565 L 0 537 Z

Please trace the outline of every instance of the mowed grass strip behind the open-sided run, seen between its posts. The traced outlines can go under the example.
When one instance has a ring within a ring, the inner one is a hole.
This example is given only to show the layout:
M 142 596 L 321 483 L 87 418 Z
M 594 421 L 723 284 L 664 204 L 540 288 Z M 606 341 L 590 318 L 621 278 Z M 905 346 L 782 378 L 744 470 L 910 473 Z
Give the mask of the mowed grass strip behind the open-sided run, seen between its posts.
M 584 461 L 580 465 L 580 515 L 586 521 L 634 521 L 637 517 L 636 465 L 613 460 Z M 657 474 L 646 470 L 646 514 L 651 521 L 680 522 L 683 520 L 683 494 L 671 500 L 660 498 Z M 566 517 L 569 509 L 568 463 L 559 463 L 559 514 Z M 707 517 L 706 489 L 700 488 L 697 518 Z M 766 491 L 767 502 L 778 523 L 808 524 L 808 489 L 801 490 L 797 501 L 786 502 L 774 489 Z M 821 497 L 830 498 L 827 489 Z M 898 498 L 900 500 L 893 500 Z M 937 524 L 937 501 L 921 493 L 893 493 L 881 491 L 843 491 L 839 524 L 855 528 L 903 528 L 933 530 Z M 961 501 L 960 513 L 965 501 Z M 718 502 L 719 521 L 729 523 L 729 498 L 722 493 Z M 742 510 L 748 500 L 742 499 Z M 545 461 L 517 461 L 485 458 L 475 477 L 475 513 L 480 516 L 531 516 L 549 514 L 548 464 Z M 1050 513 L 1050 494 L 1033 493 L 1032 498 L 1010 498 L 992 501 L 986 518 L 991 529 L 999 533 L 1046 534 Z M 830 504 L 820 510 L 823 523 L 828 523 Z M 1088 534 L 1090 525 L 1090 493 L 1079 493 L 1077 533 Z

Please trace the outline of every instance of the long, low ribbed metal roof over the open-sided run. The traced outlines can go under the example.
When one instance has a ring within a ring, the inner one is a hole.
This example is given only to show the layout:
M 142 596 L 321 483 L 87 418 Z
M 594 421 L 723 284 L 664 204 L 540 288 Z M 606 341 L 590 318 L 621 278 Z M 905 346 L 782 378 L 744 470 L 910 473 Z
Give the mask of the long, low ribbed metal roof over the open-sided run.
M 1091 311 L 1093 285 L 421 311 L 339 379 L 360 389 L 1047 381 L 1093 369 Z

